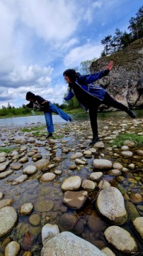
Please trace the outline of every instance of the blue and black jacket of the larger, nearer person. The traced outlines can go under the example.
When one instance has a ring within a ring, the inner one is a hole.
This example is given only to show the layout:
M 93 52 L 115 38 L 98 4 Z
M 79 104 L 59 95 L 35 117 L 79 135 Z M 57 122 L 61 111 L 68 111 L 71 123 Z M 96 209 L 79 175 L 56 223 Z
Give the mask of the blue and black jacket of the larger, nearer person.
M 90 75 L 79 74 L 76 81 L 69 84 L 70 90 L 67 97 L 64 97 L 64 100 L 71 100 L 75 95 L 84 110 L 88 110 L 88 102 L 102 102 L 105 97 L 105 89 L 101 85 L 93 84 L 93 82 L 108 75 L 109 72 L 109 70 L 103 70 Z

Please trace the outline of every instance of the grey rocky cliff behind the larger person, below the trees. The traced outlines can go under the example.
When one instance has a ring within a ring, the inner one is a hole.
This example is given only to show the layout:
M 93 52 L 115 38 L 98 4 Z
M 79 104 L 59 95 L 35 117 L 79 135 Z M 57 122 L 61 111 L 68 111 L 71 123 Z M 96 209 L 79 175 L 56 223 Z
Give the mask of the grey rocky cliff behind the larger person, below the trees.
M 91 73 L 103 70 L 113 60 L 110 75 L 98 81 L 115 100 L 129 107 L 143 109 L 143 38 L 119 53 L 99 58 L 91 64 Z M 139 94 L 142 94 L 139 97 Z M 138 100 L 139 99 L 139 100 Z M 101 109 L 108 107 L 101 106 Z

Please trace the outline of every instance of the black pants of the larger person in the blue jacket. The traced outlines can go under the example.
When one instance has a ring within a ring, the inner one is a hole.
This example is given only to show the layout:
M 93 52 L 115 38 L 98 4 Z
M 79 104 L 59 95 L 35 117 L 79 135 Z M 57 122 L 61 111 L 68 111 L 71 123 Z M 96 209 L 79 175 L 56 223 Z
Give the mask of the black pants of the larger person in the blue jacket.
M 96 98 L 93 99 L 92 97 L 92 100 L 88 101 L 88 110 L 89 110 L 89 117 L 91 121 L 91 129 L 93 132 L 93 137 L 98 136 L 97 114 L 98 114 L 98 107 L 101 104 L 107 105 L 109 107 L 115 107 L 118 110 L 128 112 L 127 107 L 122 103 L 118 102 L 117 100 L 114 100 L 113 97 L 111 97 L 108 92 L 105 92 L 105 97 L 103 102 L 101 102 L 101 100 L 98 100 L 98 99 L 96 100 Z

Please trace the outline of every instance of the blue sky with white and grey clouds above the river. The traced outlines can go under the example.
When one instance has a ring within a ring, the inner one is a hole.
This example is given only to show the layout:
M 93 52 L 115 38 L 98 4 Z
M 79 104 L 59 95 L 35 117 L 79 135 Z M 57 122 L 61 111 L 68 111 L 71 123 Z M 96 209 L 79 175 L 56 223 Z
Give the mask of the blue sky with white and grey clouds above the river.
M 141 0 L 0 0 L 0 108 L 29 90 L 62 104 L 62 73 L 99 58 L 105 36 L 127 31 Z

